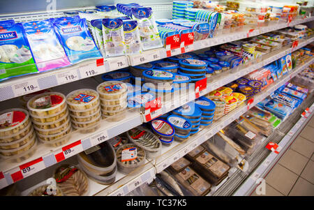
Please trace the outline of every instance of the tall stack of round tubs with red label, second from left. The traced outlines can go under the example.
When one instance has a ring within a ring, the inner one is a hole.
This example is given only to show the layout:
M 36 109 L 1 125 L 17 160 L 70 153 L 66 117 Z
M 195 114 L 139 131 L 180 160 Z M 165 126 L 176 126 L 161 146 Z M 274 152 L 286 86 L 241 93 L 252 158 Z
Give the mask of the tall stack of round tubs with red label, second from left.
M 70 139 L 71 123 L 66 96 L 51 92 L 34 96 L 27 103 L 38 140 L 59 147 Z

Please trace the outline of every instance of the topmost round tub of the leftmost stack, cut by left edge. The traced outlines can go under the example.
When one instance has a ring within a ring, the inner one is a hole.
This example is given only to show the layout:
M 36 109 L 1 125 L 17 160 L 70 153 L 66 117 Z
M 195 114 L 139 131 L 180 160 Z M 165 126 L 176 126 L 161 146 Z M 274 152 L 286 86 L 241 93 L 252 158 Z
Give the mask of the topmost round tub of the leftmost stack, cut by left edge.
M 15 126 L 1 128 L 0 137 L 7 137 L 8 135 L 15 135 L 16 133 L 20 133 L 20 131 L 23 130 L 25 127 L 27 127 L 29 124 L 29 112 L 27 112 L 27 110 L 18 109 L 18 108 L 3 110 L 0 112 L 0 116 L 4 116 L 4 114 L 7 114 L 8 112 L 18 112 L 18 113 L 23 112 L 25 114 L 25 117 L 20 123 L 17 123 Z

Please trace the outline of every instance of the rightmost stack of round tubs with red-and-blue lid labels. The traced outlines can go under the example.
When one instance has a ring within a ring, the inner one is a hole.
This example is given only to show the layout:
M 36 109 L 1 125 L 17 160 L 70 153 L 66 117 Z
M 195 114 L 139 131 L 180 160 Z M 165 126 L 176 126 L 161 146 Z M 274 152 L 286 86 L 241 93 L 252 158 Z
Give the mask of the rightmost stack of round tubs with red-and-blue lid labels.
M 126 117 L 127 90 L 126 84 L 119 81 L 108 81 L 98 85 L 103 117 L 109 121 L 120 121 Z

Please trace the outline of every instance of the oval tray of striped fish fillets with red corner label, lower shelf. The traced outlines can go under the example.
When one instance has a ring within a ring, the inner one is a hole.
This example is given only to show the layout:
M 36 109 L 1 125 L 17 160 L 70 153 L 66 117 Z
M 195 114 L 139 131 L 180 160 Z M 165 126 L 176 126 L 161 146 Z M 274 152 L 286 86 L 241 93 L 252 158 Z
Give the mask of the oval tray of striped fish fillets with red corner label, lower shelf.
M 156 158 L 161 153 L 161 142 L 150 130 L 138 126 L 126 132 L 130 142 L 145 150 L 147 158 Z

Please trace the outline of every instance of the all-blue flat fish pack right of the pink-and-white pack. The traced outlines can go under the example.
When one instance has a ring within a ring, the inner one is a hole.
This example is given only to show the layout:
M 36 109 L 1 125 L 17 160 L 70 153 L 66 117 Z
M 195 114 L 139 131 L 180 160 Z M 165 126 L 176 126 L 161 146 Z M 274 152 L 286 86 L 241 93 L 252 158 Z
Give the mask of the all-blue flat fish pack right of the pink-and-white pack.
M 85 19 L 55 22 L 54 31 L 56 31 L 71 63 L 102 57 L 91 38 Z

